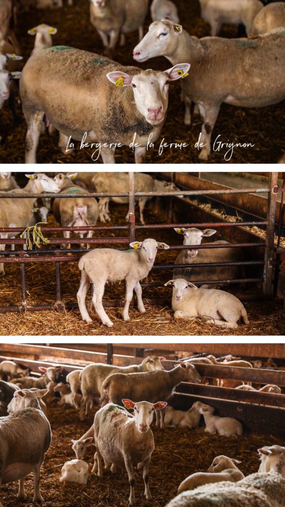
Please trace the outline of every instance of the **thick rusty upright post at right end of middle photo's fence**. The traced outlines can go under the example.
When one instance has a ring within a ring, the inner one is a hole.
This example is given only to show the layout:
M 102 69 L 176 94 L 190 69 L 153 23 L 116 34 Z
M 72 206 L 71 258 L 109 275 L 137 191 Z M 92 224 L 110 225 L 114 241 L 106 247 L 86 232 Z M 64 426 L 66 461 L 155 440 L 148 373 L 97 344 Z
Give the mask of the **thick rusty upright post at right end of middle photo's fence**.
M 264 265 L 264 282 L 263 293 L 266 297 L 272 297 L 273 287 L 273 252 L 274 252 L 274 232 L 275 232 L 275 214 L 277 203 L 277 192 L 273 189 L 278 184 L 278 172 L 272 172 L 270 176 L 270 192 L 267 201 L 267 230 L 266 230 L 266 247 L 265 247 L 265 265 Z

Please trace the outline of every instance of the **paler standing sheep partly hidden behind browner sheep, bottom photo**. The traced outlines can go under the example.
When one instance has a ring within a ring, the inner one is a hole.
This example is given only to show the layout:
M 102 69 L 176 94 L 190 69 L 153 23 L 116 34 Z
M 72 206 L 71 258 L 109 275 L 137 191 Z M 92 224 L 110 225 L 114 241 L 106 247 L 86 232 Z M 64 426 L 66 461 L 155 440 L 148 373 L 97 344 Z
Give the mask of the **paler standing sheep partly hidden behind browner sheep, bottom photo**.
M 101 386 L 106 377 L 112 373 L 138 373 L 138 372 L 151 372 L 155 370 L 163 370 L 161 361 L 164 357 L 157 355 L 148 355 L 139 365 L 129 366 L 113 366 L 104 365 L 102 363 L 95 363 L 85 366 L 81 371 L 79 377 L 81 381 L 82 402 L 80 408 L 80 419 L 84 420 L 84 411 L 86 415 L 90 412 L 91 396 L 100 396 Z M 67 380 L 67 378 L 66 378 Z

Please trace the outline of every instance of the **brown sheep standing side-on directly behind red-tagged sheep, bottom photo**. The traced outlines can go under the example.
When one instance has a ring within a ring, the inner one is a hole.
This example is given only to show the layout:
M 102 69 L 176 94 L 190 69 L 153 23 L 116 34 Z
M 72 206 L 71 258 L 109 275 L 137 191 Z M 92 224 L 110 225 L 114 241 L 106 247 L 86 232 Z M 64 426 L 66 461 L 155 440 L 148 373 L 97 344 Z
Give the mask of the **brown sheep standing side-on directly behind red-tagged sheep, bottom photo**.
M 143 373 L 113 373 L 101 386 L 101 402 L 121 405 L 122 396 L 132 395 L 133 400 L 146 400 L 151 403 L 158 397 L 167 402 L 171 400 L 175 387 L 181 382 L 200 382 L 201 377 L 190 363 L 181 363 L 169 371 Z M 160 427 L 164 428 L 164 411 L 161 412 Z

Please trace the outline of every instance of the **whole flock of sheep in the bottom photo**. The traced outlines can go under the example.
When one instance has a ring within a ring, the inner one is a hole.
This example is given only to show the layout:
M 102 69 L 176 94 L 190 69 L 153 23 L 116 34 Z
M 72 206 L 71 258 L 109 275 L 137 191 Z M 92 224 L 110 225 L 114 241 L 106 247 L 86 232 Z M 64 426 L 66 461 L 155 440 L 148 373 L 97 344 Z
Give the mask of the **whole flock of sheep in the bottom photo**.
M 188 359 L 169 371 L 163 369 L 163 360 L 164 357 L 147 356 L 141 364 L 128 367 L 95 363 L 67 376 L 61 367 L 40 367 L 43 375 L 39 378 L 29 376 L 29 370 L 21 364 L 2 361 L 0 377 L 6 379 L 0 380 L 2 484 L 19 480 L 17 496 L 26 499 L 24 479 L 33 472 L 34 500 L 43 500 L 40 469 L 51 443 L 47 405 L 55 400 L 59 405 L 79 409 L 81 420 L 89 414 L 98 397 L 101 403 L 92 426 L 80 439 L 72 440 L 76 459 L 64 463 L 60 482 L 87 483 L 88 463 L 83 458 L 86 449 L 95 446 L 92 472 L 102 478 L 103 467 L 111 468 L 112 473 L 118 472 L 118 468 L 126 468 L 130 505 L 135 504 L 134 466 L 142 468 L 145 496 L 152 498 L 149 466 L 155 448 L 150 428 L 154 415 L 156 425 L 161 429 L 166 424 L 192 430 L 198 427 L 203 416 L 207 433 L 226 437 L 242 434 L 239 421 L 214 416 L 213 407 L 200 401 L 187 412 L 167 406 L 181 382 L 201 382 L 195 365 L 207 361 L 216 364 L 214 356 Z M 225 361 L 219 364 L 252 367 L 251 363 L 232 356 L 226 357 Z M 278 386 L 266 387 L 268 392 L 271 387 L 279 389 Z M 55 392 L 60 392 L 60 400 L 55 398 Z M 133 415 L 128 410 L 133 410 Z M 240 461 L 224 455 L 216 456 L 206 472 L 196 472 L 182 481 L 177 489 L 178 496 L 167 506 L 281 507 L 285 492 L 285 447 L 264 446 L 258 452 L 261 459 L 258 473 L 244 477 L 237 467 Z

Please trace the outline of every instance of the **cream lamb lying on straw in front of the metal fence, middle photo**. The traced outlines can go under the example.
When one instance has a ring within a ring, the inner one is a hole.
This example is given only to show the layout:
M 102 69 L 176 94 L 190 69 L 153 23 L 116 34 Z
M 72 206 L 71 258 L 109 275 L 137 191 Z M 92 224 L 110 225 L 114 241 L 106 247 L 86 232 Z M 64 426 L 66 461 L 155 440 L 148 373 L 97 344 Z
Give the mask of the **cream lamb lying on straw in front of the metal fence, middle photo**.
M 169 280 L 164 285 L 173 285 L 171 305 L 174 318 L 193 320 L 202 316 L 207 324 L 230 329 L 238 328 L 240 317 L 245 324 L 250 323 L 243 304 L 232 294 L 217 289 L 198 288 L 183 278 Z

